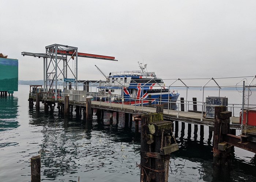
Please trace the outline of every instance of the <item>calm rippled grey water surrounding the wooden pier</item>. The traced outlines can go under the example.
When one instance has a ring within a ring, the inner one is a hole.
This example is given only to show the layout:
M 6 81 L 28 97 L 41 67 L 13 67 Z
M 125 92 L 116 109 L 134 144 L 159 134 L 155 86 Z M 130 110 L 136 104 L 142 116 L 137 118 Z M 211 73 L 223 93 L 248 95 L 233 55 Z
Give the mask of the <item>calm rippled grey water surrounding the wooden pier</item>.
M 42 105 L 38 112 L 29 109 L 28 90 L 29 86 L 19 85 L 13 98 L 0 98 L 0 181 L 30 181 L 29 158 L 39 150 L 43 181 L 78 181 L 78 177 L 81 182 L 139 181 L 140 135 L 135 134 L 133 122 L 125 125 L 121 113 L 119 122 L 114 114 L 110 124 L 108 113 L 103 121 L 94 115 L 92 122 L 85 123 L 75 112 L 69 119 L 57 109 L 45 114 Z M 235 92 L 228 92 L 234 98 Z M 198 92 L 189 94 L 192 98 Z M 187 124 L 185 129 L 180 124 L 175 131 L 180 148 L 170 159 L 170 182 L 210 182 L 216 181 L 216 175 L 222 181 L 256 181 L 255 154 L 238 148 L 230 169 L 217 173 L 208 134 L 207 127 L 200 135 L 200 127 L 194 133 L 192 125 L 190 134 Z

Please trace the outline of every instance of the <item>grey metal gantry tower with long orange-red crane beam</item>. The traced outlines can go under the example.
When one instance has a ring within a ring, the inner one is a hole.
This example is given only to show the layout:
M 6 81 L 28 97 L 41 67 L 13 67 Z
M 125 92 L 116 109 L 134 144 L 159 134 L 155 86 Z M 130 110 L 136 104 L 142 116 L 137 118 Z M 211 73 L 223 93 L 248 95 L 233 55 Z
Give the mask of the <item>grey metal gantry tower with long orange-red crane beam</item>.
M 34 56 L 44 59 L 44 92 L 46 97 L 49 91 L 54 92 L 57 100 L 58 80 L 63 79 L 63 90 L 67 88 L 65 79 L 70 76 L 78 86 L 78 57 L 115 60 L 112 56 L 103 56 L 78 52 L 77 47 L 65 46 L 61 44 L 52 44 L 45 47 L 45 53 L 22 52 L 23 56 Z M 49 88 L 48 88 L 49 86 Z

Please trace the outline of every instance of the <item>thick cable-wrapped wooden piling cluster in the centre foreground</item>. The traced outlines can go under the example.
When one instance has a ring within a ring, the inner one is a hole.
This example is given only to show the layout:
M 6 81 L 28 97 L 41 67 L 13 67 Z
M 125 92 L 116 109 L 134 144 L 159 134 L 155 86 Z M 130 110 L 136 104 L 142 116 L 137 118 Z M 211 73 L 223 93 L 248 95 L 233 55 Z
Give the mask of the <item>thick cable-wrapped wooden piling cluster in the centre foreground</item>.
M 168 181 L 170 153 L 178 150 L 176 142 L 170 145 L 171 128 L 162 112 L 141 116 L 140 181 Z

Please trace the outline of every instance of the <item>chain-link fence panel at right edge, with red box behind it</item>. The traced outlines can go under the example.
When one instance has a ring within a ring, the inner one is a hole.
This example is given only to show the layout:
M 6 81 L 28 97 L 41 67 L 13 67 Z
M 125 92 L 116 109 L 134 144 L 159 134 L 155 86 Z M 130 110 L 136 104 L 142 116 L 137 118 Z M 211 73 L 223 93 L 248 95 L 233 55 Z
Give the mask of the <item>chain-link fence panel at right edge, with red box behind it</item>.
M 256 86 L 244 87 L 244 114 L 242 123 L 245 135 L 256 135 Z

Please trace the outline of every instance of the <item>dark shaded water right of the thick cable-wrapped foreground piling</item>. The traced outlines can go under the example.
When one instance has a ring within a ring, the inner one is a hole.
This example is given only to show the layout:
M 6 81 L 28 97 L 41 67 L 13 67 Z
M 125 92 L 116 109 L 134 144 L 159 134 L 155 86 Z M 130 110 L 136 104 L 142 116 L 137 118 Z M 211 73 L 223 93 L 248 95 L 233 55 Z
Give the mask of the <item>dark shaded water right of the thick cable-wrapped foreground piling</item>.
M 177 122 L 178 123 L 178 122 Z M 180 132 L 177 132 L 181 126 Z M 193 138 L 191 138 L 192 127 L 194 127 Z M 184 134 L 187 129 L 187 137 Z M 204 131 L 204 132 L 203 132 Z M 198 140 L 198 126 L 194 124 L 175 124 L 176 140 L 179 150 L 172 154 L 170 159 L 169 181 L 256 181 L 256 155 L 244 159 L 233 157 L 230 166 L 217 167 L 212 164 L 212 129 L 200 126 L 200 139 Z M 206 137 L 209 132 L 209 137 Z M 204 135 L 206 134 L 206 135 Z M 254 171 L 254 172 L 253 172 Z

